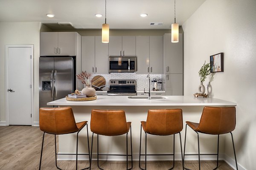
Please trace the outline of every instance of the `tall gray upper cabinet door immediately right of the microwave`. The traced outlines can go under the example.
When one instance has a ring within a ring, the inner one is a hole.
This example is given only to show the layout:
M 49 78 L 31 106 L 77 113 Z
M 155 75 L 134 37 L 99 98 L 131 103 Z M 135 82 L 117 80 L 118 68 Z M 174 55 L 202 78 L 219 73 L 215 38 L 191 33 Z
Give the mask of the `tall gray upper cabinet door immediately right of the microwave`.
M 136 74 L 148 74 L 149 73 L 149 36 L 136 37 L 136 56 L 137 56 Z

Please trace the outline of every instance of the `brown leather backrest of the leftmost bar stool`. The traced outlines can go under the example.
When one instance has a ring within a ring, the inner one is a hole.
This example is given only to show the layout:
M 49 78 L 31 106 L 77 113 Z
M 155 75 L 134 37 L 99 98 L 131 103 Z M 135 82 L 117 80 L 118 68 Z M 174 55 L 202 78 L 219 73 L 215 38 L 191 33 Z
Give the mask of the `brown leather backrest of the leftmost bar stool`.
M 67 134 L 79 131 L 72 108 L 40 108 L 40 130 L 50 134 Z

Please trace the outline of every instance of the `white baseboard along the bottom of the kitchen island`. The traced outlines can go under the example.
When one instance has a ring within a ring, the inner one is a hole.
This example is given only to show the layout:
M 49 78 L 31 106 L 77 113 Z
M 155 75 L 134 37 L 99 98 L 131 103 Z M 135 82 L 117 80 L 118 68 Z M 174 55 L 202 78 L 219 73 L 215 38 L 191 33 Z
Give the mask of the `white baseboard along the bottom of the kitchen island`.
M 141 157 L 144 159 L 144 156 Z M 202 155 L 200 156 L 201 160 L 216 160 L 216 156 L 213 155 Z M 76 160 L 76 155 L 58 155 L 58 160 L 67 161 L 67 160 Z M 78 160 L 86 161 L 89 160 L 87 155 L 78 156 Z M 93 160 L 97 160 L 97 153 L 93 153 Z M 108 160 L 108 161 L 126 161 L 126 156 L 100 156 L 99 160 Z M 131 156 L 128 156 L 128 160 L 131 160 Z M 139 153 L 133 154 L 133 160 L 139 161 Z M 172 160 L 172 156 L 147 156 L 148 161 L 166 161 Z M 185 156 L 186 161 L 197 161 L 198 156 Z M 219 153 L 219 160 L 224 160 L 224 153 Z M 181 161 L 181 154 L 175 153 L 175 161 Z

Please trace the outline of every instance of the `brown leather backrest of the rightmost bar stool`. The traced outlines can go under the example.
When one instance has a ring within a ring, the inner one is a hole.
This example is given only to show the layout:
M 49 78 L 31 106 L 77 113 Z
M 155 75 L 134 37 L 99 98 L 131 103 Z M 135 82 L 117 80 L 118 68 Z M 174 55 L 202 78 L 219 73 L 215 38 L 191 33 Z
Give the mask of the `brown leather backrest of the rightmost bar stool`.
M 198 129 L 202 133 L 224 134 L 236 127 L 236 108 L 204 107 Z

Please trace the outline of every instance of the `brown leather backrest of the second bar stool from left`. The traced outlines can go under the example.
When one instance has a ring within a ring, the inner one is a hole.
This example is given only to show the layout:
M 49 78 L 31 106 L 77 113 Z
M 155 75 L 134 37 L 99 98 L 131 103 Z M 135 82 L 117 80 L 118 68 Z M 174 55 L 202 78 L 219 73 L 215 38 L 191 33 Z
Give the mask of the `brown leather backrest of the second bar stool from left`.
M 125 111 L 93 109 L 90 130 L 93 133 L 105 136 L 117 136 L 127 133 Z

